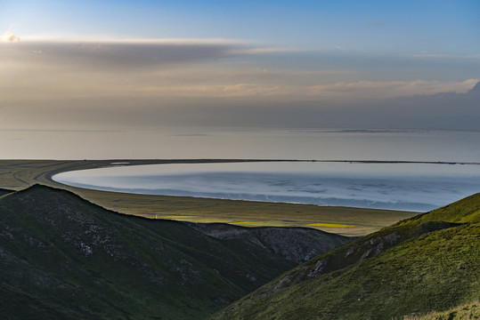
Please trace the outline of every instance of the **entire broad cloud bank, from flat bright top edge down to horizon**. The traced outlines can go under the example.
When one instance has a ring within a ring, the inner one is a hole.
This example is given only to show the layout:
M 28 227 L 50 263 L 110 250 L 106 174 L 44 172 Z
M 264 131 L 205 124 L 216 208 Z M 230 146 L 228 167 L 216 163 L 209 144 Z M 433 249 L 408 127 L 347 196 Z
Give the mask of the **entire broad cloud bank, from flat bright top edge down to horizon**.
M 11 40 L 0 43 L 0 125 L 5 128 L 255 125 L 480 130 L 473 120 L 478 118 L 479 98 L 468 92 L 477 78 L 403 76 L 405 66 L 435 71 L 438 58 L 419 62 L 270 50 L 222 39 L 19 42 L 11 34 L 7 38 Z M 470 61 L 449 61 L 442 62 L 444 74 L 459 68 L 475 70 Z M 378 69 L 388 67 L 386 72 L 365 67 L 375 63 Z

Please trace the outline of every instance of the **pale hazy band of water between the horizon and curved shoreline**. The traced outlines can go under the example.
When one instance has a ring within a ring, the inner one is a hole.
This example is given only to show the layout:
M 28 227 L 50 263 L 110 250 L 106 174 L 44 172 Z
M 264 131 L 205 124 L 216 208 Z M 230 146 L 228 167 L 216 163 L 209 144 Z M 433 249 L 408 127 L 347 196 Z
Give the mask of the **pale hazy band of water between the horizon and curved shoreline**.
M 17 159 L 318 159 L 477 162 L 480 132 L 159 128 L 0 131 Z

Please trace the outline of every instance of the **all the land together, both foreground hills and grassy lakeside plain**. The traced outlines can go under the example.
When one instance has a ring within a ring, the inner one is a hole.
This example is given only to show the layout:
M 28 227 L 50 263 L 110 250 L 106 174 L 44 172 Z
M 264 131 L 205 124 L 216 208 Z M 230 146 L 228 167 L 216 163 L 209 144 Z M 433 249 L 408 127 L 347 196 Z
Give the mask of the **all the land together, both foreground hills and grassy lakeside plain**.
M 480 194 L 418 214 L 51 180 L 111 162 L 0 161 L 3 318 L 480 317 Z M 167 160 L 138 164 L 148 162 Z M 256 228 L 232 223 L 263 213 Z M 314 223 L 357 227 L 301 228 Z

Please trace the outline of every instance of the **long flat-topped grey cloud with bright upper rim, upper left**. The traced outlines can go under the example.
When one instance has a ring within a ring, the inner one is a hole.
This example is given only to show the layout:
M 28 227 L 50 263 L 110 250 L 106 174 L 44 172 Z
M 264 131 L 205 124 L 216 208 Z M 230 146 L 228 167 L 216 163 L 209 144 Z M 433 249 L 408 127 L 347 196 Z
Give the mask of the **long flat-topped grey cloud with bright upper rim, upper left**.
M 6 35 L 6 34 L 5 34 Z M 13 35 L 4 36 L 13 41 Z M 242 44 L 219 39 L 159 39 L 105 41 L 22 41 L 15 51 L 1 50 L 2 60 L 32 59 L 42 52 L 38 64 L 78 69 L 138 69 L 216 60 L 240 54 Z

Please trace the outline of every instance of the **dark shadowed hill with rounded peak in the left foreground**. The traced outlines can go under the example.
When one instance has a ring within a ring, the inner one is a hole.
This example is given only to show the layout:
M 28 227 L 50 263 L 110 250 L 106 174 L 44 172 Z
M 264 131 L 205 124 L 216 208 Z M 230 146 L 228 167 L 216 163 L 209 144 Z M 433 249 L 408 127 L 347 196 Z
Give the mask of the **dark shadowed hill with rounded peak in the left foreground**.
M 350 238 L 147 220 L 69 191 L 0 197 L 4 319 L 201 319 Z

